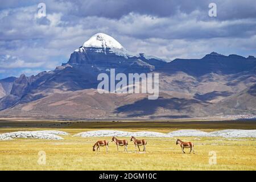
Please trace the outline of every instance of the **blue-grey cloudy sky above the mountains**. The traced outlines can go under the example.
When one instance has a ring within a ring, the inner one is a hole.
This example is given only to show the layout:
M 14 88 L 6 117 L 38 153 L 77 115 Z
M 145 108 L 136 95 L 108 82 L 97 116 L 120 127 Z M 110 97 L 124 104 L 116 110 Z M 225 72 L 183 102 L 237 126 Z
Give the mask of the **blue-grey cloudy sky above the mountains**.
M 208 15 L 211 2 L 217 17 Z M 1 0 L 0 78 L 54 69 L 97 32 L 170 60 L 212 51 L 256 56 L 256 1 Z

